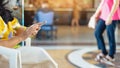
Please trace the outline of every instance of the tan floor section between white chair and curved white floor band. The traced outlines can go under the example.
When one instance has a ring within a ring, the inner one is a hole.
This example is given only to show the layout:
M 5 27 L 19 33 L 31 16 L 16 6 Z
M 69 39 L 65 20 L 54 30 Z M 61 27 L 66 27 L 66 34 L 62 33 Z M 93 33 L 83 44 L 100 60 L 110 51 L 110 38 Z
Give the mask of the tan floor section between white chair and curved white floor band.
M 71 49 L 47 50 L 49 55 L 58 63 L 58 68 L 76 68 L 67 60 L 67 55 Z

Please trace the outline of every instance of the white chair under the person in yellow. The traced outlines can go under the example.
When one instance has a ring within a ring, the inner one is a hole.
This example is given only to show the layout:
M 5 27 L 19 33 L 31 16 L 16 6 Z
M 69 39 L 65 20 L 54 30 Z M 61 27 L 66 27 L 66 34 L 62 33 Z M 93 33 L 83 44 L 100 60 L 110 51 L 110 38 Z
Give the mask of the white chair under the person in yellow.
M 43 48 L 31 47 L 30 38 L 25 40 L 25 42 L 26 46 L 20 47 L 18 49 L 11 49 L 0 46 L 0 55 L 2 55 L 2 58 L 0 56 L 0 62 L 7 63 L 9 60 L 9 68 L 34 68 L 36 65 L 39 65 L 38 68 L 58 68 L 57 63 Z

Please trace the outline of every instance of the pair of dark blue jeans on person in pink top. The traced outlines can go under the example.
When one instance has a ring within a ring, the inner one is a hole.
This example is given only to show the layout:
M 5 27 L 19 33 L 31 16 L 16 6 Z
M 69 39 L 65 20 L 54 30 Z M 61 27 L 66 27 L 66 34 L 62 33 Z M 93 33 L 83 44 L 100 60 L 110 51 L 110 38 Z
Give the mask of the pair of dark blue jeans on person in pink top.
M 116 41 L 115 41 L 115 29 L 116 29 L 117 20 L 112 21 L 110 25 L 105 25 L 105 21 L 102 19 L 99 19 L 96 28 L 95 28 L 95 37 L 97 40 L 98 49 L 102 51 L 104 55 L 109 55 L 112 58 L 114 57 L 114 54 L 116 53 Z M 107 49 L 105 47 L 105 42 L 103 38 L 104 31 L 107 31 L 107 37 L 109 41 L 109 53 L 107 52 Z

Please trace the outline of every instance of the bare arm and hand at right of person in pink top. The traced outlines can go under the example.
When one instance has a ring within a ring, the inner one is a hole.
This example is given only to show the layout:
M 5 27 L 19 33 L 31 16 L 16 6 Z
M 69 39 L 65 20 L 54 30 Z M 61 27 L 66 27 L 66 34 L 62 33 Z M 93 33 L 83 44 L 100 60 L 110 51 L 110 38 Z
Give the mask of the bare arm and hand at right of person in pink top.
M 107 20 L 106 20 L 106 25 L 109 25 L 109 24 L 112 23 L 112 16 L 114 15 L 116 9 L 119 7 L 119 4 L 120 4 L 119 2 L 120 2 L 119 0 L 114 0 L 111 12 L 110 12 L 110 14 L 109 14 L 109 16 L 107 17 Z

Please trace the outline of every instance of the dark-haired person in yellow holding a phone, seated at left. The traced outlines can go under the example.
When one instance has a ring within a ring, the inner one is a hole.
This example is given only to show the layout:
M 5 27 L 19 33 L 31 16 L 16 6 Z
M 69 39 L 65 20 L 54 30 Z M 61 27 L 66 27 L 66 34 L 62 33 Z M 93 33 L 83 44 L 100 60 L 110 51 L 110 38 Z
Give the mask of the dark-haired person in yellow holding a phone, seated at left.
M 21 26 L 11 11 L 5 8 L 8 2 L 4 1 L 0 0 L 0 46 L 13 48 L 27 37 L 36 35 L 41 24 L 33 24 L 28 28 Z

